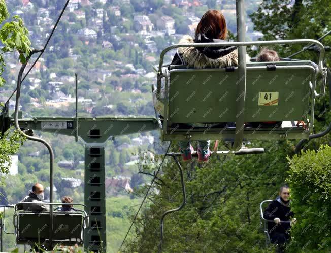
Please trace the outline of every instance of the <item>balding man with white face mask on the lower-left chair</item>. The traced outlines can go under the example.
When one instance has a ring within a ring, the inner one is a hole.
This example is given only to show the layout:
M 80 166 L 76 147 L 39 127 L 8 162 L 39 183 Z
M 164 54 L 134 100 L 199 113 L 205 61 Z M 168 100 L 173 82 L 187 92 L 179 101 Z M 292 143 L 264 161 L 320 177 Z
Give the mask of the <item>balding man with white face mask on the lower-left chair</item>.
M 49 211 L 48 205 L 43 205 L 44 201 L 44 186 L 40 183 L 32 186 L 29 196 L 26 196 L 21 202 L 34 202 L 39 204 L 25 204 L 23 203 L 22 209 L 24 211 L 44 212 Z

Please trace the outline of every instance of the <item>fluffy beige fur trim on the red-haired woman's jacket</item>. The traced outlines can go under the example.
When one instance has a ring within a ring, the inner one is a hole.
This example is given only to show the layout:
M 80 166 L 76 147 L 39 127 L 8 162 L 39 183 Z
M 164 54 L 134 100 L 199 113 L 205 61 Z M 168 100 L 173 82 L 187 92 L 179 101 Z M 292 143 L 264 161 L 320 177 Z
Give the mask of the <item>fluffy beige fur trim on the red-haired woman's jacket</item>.
M 193 38 L 184 35 L 179 43 L 194 43 Z M 238 66 L 238 50 L 234 50 L 227 55 L 217 59 L 211 59 L 198 51 L 195 47 L 180 47 L 178 52 L 182 57 L 185 65 L 192 66 L 196 69 L 204 68 L 224 68 L 227 66 Z M 250 57 L 246 55 L 246 62 L 250 62 Z

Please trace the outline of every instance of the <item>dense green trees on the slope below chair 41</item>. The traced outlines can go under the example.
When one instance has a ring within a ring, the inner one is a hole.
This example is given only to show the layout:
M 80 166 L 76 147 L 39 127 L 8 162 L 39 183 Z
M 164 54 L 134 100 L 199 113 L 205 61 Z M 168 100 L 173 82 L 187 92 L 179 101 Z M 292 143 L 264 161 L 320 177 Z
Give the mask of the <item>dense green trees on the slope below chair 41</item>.
M 164 252 L 271 252 L 263 249 L 259 203 L 278 194 L 292 144 L 277 141 L 263 146 L 268 150 L 263 155 L 215 157 L 201 168 L 183 164 L 187 204 L 166 217 Z M 154 169 L 145 166 L 145 172 L 153 174 Z M 168 161 L 162 169 L 149 208 L 137 220 L 124 252 L 157 251 L 160 216 L 182 202 L 176 164 Z

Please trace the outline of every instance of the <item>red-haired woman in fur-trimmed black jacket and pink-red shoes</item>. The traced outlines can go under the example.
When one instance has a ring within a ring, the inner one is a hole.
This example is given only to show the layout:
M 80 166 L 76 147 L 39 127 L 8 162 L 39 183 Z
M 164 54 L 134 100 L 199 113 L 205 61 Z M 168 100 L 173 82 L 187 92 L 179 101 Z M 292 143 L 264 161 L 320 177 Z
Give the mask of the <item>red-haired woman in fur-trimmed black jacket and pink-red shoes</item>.
M 194 39 L 189 35 L 185 35 L 179 43 L 226 42 L 225 39 L 227 35 L 228 32 L 223 14 L 217 10 L 209 10 L 198 23 Z M 250 62 L 249 59 L 247 55 L 247 62 Z M 187 65 L 188 67 L 194 67 L 196 69 L 238 66 L 238 52 L 235 46 L 182 47 L 177 49 L 171 65 Z M 154 107 L 161 115 L 164 110 L 162 100 L 164 100 L 164 88 L 161 88 L 159 99 L 156 98 L 156 90 L 154 90 Z M 196 124 L 193 125 L 196 126 Z M 208 162 L 210 156 L 209 143 L 210 141 L 198 141 L 198 162 Z M 179 147 L 183 160 L 191 160 L 194 149 L 190 142 L 179 141 Z

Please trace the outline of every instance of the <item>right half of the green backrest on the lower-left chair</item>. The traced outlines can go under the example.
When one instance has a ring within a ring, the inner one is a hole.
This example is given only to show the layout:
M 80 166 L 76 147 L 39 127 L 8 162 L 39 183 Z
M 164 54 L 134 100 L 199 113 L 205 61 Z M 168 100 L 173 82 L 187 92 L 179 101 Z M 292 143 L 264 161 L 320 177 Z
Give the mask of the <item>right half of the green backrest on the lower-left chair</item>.
M 82 228 L 84 217 L 82 213 L 55 213 L 53 223 L 53 239 L 65 240 L 71 238 L 83 239 Z

